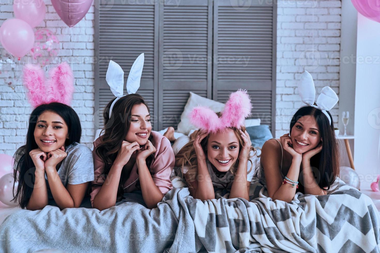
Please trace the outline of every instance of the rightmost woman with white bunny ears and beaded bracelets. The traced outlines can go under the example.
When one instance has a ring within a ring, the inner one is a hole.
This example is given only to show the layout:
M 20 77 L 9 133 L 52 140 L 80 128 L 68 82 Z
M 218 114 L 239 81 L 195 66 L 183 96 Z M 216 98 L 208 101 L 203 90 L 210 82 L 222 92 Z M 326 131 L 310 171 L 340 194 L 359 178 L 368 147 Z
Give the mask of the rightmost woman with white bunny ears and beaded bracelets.
M 293 200 L 296 192 L 325 195 L 339 174 L 339 151 L 331 110 L 336 93 L 324 87 L 315 100 L 312 76 L 305 71 L 298 86 L 305 105 L 294 113 L 290 133 L 266 141 L 254 177 L 272 200 Z

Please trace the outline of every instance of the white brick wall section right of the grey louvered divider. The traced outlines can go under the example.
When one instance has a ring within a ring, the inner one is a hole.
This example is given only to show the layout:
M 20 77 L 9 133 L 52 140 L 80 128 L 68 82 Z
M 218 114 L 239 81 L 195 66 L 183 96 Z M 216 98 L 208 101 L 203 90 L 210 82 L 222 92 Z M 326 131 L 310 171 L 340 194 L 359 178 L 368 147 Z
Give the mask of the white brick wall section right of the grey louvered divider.
M 339 61 L 333 58 L 340 56 L 341 2 L 275 2 L 278 3 L 275 135 L 279 138 L 289 132 L 291 116 L 302 105 L 297 86 L 304 69 L 313 76 L 317 97 L 324 86 L 331 86 L 339 96 Z M 317 57 L 315 64 L 311 55 Z M 338 108 L 339 102 L 330 111 L 334 124 L 338 122 Z

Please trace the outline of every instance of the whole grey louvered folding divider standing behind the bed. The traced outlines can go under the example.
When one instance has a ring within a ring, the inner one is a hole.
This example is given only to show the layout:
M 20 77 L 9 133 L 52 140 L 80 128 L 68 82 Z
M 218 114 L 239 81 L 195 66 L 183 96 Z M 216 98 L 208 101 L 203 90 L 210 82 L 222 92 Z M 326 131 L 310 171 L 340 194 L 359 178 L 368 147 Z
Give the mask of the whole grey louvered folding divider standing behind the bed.
M 237 88 L 252 97 L 252 118 L 275 130 L 276 15 L 261 0 L 110 0 L 95 2 L 95 123 L 113 98 L 109 60 L 125 80 L 145 54 L 138 93 L 149 102 L 153 130 L 176 126 L 189 91 L 225 102 Z M 124 91 L 126 94 L 126 90 Z

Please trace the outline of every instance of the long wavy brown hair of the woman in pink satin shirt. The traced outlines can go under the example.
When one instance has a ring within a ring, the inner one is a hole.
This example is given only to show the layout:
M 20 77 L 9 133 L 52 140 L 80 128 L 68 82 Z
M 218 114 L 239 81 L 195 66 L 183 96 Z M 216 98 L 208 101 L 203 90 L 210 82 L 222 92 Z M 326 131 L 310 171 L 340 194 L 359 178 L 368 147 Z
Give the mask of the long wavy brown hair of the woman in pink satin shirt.
M 109 101 L 106 105 L 103 118 L 104 118 L 104 127 L 101 130 L 104 133 L 101 136 L 101 143 L 95 148 L 97 155 L 103 160 L 105 167 L 103 176 L 107 177 L 109 170 L 111 170 L 112 164 L 116 160 L 117 153 L 125 139 L 125 136 L 128 134 L 128 130 L 131 124 L 131 112 L 133 105 L 144 104 L 149 112 L 149 107 L 145 102 L 144 98 L 139 94 L 128 94 L 127 96 L 121 97 L 116 103 L 114 107 L 112 107 L 111 118 L 109 117 L 109 109 L 111 107 L 112 102 L 116 98 Z M 152 140 L 153 136 L 150 135 L 148 140 Z M 153 172 L 150 170 L 150 165 L 153 161 L 154 154 L 151 154 L 146 159 L 147 167 L 149 168 L 150 174 Z M 97 182 L 98 179 L 95 179 Z M 120 176 L 119 187 L 117 189 L 117 197 L 116 200 L 120 201 L 123 198 L 123 183 L 127 180 L 127 178 L 123 177 L 123 174 Z M 93 187 L 99 187 L 100 184 L 93 184 Z M 139 184 L 136 185 L 139 188 Z

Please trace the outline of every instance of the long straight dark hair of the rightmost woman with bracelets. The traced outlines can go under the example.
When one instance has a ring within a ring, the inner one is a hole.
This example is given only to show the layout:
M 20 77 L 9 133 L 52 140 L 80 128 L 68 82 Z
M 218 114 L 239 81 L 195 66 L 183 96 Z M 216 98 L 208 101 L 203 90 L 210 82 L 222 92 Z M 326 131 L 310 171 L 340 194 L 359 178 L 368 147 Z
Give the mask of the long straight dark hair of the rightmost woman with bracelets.
M 321 152 L 310 159 L 310 166 L 317 169 L 319 172 L 319 178 L 317 179 L 319 187 L 321 189 L 327 187 L 327 190 L 329 190 L 331 184 L 339 175 L 339 146 L 336 141 L 334 123 L 332 122 L 331 114 L 328 111 L 327 113 L 331 119 L 331 124 L 329 123 L 327 116 L 320 109 L 312 106 L 299 108 L 291 119 L 290 135 L 291 129 L 299 118 L 305 115 L 314 116 L 323 141 Z M 316 176 L 318 177 L 317 174 Z

